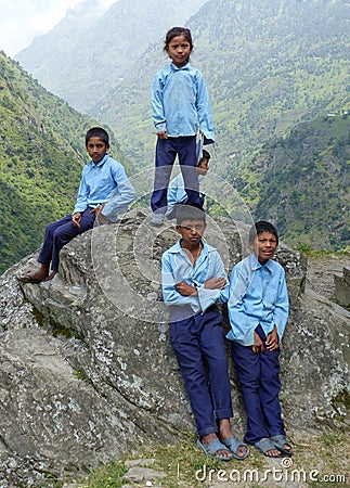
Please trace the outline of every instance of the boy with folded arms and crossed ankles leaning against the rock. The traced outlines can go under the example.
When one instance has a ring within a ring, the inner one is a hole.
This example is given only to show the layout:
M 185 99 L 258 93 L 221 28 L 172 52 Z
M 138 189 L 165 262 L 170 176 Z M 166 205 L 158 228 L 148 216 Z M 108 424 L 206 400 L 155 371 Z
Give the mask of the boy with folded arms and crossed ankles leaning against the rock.
M 180 205 L 176 229 L 181 239 L 161 259 L 163 296 L 170 311 L 170 342 L 196 419 L 197 446 L 222 461 L 243 460 L 249 449 L 231 432 L 222 316 L 215 306 L 228 299 L 228 279 L 219 253 L 202 239 L 205 228 L 204 211 Z

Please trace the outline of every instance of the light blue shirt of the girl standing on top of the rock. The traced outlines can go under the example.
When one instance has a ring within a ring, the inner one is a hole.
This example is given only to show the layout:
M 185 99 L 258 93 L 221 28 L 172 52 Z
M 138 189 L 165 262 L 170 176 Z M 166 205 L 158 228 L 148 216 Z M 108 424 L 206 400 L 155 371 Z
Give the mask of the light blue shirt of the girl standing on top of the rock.
M 154 77 L 152 118 L 156 132 L 168 137 L 196 136 L 198 128 L 215 140 L 207 86 L 202 73 L 187 63 L 178 68 L 170 63 Z

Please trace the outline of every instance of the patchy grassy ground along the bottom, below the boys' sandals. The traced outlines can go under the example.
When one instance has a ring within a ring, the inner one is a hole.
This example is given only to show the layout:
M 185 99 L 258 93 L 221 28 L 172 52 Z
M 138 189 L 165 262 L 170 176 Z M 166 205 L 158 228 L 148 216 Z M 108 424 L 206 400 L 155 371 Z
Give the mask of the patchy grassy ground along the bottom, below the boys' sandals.
M 346 432 L 335 431 L 319 436 L 296 434 L 291 441 L 295 455 L 290 467 L 284 467 L 283 460 L 269 460 L 256 449 L 250 449 L 247 460 L 220 462 L 206 458 L 196 448 L 195 436 L 177 445 L 153 445 L 141 447 L 133 457 L 124 460 L 111 460 L 80 481 L 83 488 L 118 488 L 127 481 L 122 478 L 127 472 L 126 460 L 154 459 L 148 466 L 166 476 L 157 480 L 144 480 L 135 486 L 157 486 L 163 488 L 198 488 L 203 486 L 265 486 L 275 487 L 283 480 L 290 486 L 302 481 L 302 486 L 320 488 L 332 486 L 343 488 L 349 483 L 349 452 Z M 275 473 L 273 474 L 273 472 Z M 230 479 L 231 478 L 231 479 Z M 265 478 L 265 479 L 264 479 Z M 317 479 L 317 480 L 316 480 Z M 129 481 L 130 484 L 130 481 Z M 208 485 L 209 484 L 209 485 Z M 132 484 L 131 484 L 132 486 Z M 283 486 L 283 485 L 281 485 Z

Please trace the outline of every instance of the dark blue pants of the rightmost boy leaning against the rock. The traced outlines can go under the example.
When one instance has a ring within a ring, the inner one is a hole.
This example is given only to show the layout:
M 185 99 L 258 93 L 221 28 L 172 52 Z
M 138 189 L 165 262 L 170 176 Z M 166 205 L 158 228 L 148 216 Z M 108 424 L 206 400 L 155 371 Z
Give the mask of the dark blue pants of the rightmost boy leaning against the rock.
M 256 332 L 265 343 L 265 335 L 258 325 Z M 255 444 L 263 437 L 285 435 L 282 420 L 278 394 L 280 382 L 280 349 L 258 355 L 251 346 L 232 343 L 232 357 L 242 386 L 242 393 L 247 414 L 246 442 Z

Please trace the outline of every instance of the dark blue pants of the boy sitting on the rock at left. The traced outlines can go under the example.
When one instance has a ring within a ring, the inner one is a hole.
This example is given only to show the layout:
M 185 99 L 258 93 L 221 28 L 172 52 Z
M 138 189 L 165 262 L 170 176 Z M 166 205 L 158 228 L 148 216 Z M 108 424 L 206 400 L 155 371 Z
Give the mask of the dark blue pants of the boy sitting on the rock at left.
M 43 243 L 39 253 L 38 262 L 50 264 L 51 270 L 59 270 L 60 251 L 62 247 L 72 241 L 78 234 L 82 234 L 89 229 L 93 228 L 94 214 L 91 213 L 91 208 L 87 208 L 80 220 L 80 227 L 74 227 L 72 222 L 72 215 L 67 215 L 62 220 L 49 223 L 46 227 L 43 236 Z

